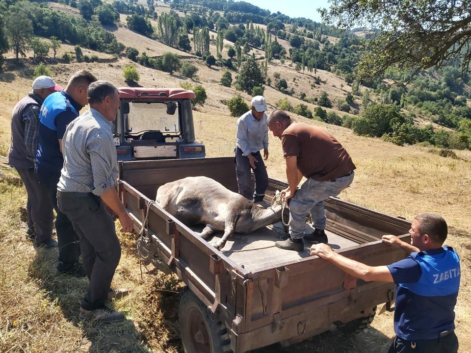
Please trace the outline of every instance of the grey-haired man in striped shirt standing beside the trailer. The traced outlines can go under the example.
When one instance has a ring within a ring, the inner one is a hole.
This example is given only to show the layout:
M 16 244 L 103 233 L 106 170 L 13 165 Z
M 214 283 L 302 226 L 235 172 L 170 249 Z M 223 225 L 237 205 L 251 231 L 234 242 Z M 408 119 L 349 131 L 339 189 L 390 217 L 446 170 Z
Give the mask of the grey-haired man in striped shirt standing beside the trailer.
M 119 106 L 118 90 L 105 81 L 93 82 L 88 102 L 90 109 L 69 124 L 62 140 L 64 166 L 57 184 L 57 204 L 80 238 L 83 267 L 90 280 L 80 318 L 118 322 L 124 315 L 107 308 L 105 301 L 124 291 L 110 290 L 121 246 L 105 205 L 118 215 L 123 231 L 133 229 L 115 188 L 118 163 L 112 122 Z

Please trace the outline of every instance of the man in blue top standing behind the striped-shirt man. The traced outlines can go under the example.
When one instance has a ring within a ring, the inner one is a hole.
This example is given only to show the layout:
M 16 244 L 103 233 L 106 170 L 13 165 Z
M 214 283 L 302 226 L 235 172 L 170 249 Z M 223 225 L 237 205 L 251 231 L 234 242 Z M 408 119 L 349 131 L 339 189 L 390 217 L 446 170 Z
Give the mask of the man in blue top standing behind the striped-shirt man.
M 57 183 L 64 164 L 61 142 L 65 129 L 78 117 L 80 109 L 88 103 L 88 86 L 96 80 L 96 77 L 88 71 L 78 71 L 70 78 L 64 90 L 46 98 L 39 114 L 35 171 L 39 182 L 48 189 L 49 200 L 42 202 L 43 207 L 50 207 L 51 212 L 53 207 L 57 213 L 55 220 L 59 248 L 57 271 L 77 277 L 86 275 L 78 262 L 78 235 L 67 216 L 57 208 Z

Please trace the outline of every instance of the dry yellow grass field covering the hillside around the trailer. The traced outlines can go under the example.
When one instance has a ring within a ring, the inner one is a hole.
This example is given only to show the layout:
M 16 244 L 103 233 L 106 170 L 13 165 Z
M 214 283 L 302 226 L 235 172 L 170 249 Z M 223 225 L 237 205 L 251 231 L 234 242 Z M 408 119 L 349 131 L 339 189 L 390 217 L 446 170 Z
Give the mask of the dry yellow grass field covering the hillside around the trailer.
M 140 52 L 158 55 L 162 50 L 169 50 L 130 33 L 125 27 L 118 27 L 115 34 L 123 43 L 129 36 L 132 46 Z M 73 51 L 73 47 L 64 45 L 61 50 Z M 240 92 L 218 84 L 223 72 L 220 68 L 208 68 L 196 58 L 191 61 L 199 67 L 199 78 L 192 82 L 202 84 L 208 95 L 206 104 L 194 111 L 197 139 L 206 145 L 208 157 L 231 156 L 236 118 L 229 115 L 221 101 Z M 50 69 L 53 78 L 64 87 L 68 77 L 79 69 L 90 70 L 99 78 L 124 86 L 122 68 L 127 63 L 127 59 L 113 63 L 73 62 L 50 65 Z M 178 331 L 178 291 L 182 283 L 165 266 L 154 268 L 152 265 L 148 266 L 150 276 L 141 280 L 134 235 L 119 234 L 123 251 L 113 285 L 132 288 L 132 292 L 112 303 L 114 308 L 126 313 L 123 323 L 112 325 L 79 321 L 78 307 L 87 280 L 58 275 L 55 271 L 57 252 L 37 250 L 26 240 L 26 225 L 20 215 L 20 207 L 26 203 L 25 189 L 16 172 L 6 165 L 5 157 L 10 142 L 11 109 L 29 91 L 33 78 L 28 76 L 28 69 L 30 66 L 26 64 L 0 74 L 0 352 L 183 352 Z M 139 84 L 143 87 L 178 87 L 181 82 L 190 81 L 142 66 L 137 70 L 141 76 Z M 274 72 L 287 79 L 288 89 L 293 86 L 296 95 L 305 92 L 308 97 L 317 96 L 320 90 L 326 90 L 335 100 L 344 97 L 345 91 L 350 89 L 345 85 L 342 90 L 342 80 L 323 71 L 318 71 L 317 75 L 327 83 L 316 85 L 314 89 L 310 76 L 296 73 L 287 64 L 277 61 L 270 64 L 268 76 L 273 77 Z M 250 101 L 248 95 L 242 93 L 242 97 Z M 288 96 L 267 86 L 265 97 L 272 111 L 279 100 Z M 294 97 L 288 100 L 293 105 L 301 102 Z M 311 109 L 315 107 L 308 105 Z M 471 352 L 471 335 L 467 329 L 471 326 L 471 152 L 456 151 L 457 159 L 444 158 L 431 153 L 430 148 L 399 147 L 379 139 L 356 136 L 339 126 L 297 116 L 296 119 L 328 129 L 352 155 L 357 166 L 356 176 L 352 186 L 340 194 L 341 199 L 408 220 L 421 212 L 445 217 L 450 226 L 446 243 L 461 256 L 462 281 L 455 310 L 460 352 Z M 269 176 L 286 180 L 280 141 L 273 136 L 269 139 Z M 274 345 L 257 352 L 386 352 L 392 336 L 392 314 L 384 313 L 356 336 L 326 333 L 291 347 Z

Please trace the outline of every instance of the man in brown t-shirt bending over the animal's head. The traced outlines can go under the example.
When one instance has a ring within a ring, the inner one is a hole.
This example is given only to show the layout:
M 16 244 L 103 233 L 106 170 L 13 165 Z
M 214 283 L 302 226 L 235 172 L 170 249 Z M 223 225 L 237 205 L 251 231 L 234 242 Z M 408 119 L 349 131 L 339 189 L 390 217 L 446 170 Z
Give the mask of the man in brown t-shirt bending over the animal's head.
M 277 241 L 276 246 L 301 252 L 303 237 L 315 243 L 327 243 L 324 200 L 339 195 L 352 183 L 356 167 L 350 155 L 326 130 L 296 123 L 284 110 L 274 110 L 266 123 L 273 136 L 281 140 L 288 178 L 288 188 L 282 195 L 289 202 L 290 238 Z M 297 190 L 303 176 L 307 180 Z M 315 230 L 305 235 L 308 213 Z

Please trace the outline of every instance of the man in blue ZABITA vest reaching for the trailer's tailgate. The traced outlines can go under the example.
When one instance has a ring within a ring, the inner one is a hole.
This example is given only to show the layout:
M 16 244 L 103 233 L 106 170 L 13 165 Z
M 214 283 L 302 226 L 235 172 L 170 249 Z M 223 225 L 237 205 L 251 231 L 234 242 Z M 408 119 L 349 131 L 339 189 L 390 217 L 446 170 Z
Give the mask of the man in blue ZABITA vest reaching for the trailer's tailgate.
M 456 353 L 454 308 L 461 270 L 458 254 L 443 246 L 447 232 L 441 216 L 418 215 L 409 230 L 411 244 L 393 235 L 383 236 L 384 243 L 409 253 L 406 259 L 387 266 L 367 266 L 334 252 L 326 244 L 313 245 L 311 255 L 322 257 L 365 281 L 397 284 L 396 336 L 388 353 Z

